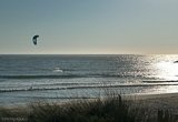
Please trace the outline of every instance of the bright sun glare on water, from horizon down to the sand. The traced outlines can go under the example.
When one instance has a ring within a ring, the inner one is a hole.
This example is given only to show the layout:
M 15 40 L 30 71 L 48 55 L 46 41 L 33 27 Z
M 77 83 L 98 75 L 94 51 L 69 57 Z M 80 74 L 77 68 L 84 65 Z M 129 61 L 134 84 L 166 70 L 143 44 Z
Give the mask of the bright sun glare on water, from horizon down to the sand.
M 151 61 L 151 60 L 150 60 Z M 178 92 L 178 55 L 156 55 L 152 60 L 152 87 L 145 89 L 144 93 L 161 94 Z

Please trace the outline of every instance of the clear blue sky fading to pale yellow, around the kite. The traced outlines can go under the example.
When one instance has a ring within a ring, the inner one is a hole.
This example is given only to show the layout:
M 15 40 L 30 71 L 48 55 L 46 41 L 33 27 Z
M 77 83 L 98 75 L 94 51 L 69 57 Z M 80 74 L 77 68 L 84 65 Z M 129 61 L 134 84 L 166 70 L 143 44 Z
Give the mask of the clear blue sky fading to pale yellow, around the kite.
M 177 54 L 177 13 L 178 0 L 0 0 L 0 54 Z

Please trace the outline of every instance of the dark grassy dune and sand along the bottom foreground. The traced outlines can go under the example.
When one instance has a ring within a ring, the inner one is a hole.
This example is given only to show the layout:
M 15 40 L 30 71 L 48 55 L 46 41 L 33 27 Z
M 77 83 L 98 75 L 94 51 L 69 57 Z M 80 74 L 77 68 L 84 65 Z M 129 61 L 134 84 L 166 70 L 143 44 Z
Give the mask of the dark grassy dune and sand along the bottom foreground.
M 79 111 L 79 109 L 81 110 Z M 102 113 L 102 115 L 100 113 Z M 26 104 L 24 106 L 13 106 L 13 108 L 0 106 L 0 119 L 22 118 L 26 119 L 26 121 L 31 119 L 32 120 L 40 119 L 41 120 L 40 122 L 43 122 L 44 121 L 43 116 L 47 116 L 51 120 L 53 120 L 53 118 L 60 120 L 61 118 L 59 114 L 61 114 L 62 118 L 66 119 L 69 118 L 76 119 L 76 115 L 79 115 L 81 116 L 81 119 L 83 119 L 83 121 L 85 119 L 88 119 L 88 116 L 93 118 L 93 115 L 97 116 L 98 120 L 100 120 L 106 116 L 105 114 L 113 115 L 112 119 L 122 119 L 122 118 L 128 119 L 127 118 L 128 115 L 129 118 L 132 118 L 135 120 L 134 122 L 146 122 L 146 121 L 138 121 L 141 119 L 142 120 L 154 119 L 155 120 L 154 122 L 162 122 L 159 121 L 159 119 L 178 120 L 178 93 L 145 94 L 145 95 L 144 94 L 120 95 L 117 93 L 116 94 L 111 93 L 108 94 L 106 99 L 98 98 L 93 101 L 85 99 L 81 101 L 68 101 L 65 102 L 63 104 L 60 102 L 50 103 L 50 102 L 39 101 L 37 103 L 31 102 L 31 104 Z M 71 116 L 71 114 L 73 115 Z M 110 118 L 108 116 L 108 119 Z M 175 121 L 169 121 L 169 122 L 175 122 Z

